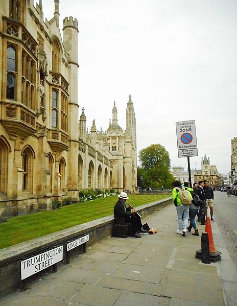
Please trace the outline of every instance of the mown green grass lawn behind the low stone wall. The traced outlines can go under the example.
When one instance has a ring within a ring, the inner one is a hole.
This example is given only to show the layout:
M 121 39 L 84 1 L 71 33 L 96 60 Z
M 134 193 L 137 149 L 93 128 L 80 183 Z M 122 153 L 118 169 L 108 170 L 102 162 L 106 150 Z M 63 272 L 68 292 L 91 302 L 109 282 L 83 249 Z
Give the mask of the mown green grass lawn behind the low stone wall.
M 171 195 L 129 195 L 134 207 L 162 200 Z M 0 224 L 0 249 L 41 237 L 68 227 L 113 215 L 118 197 L 75 203 L 59 209 L 7 219 Z

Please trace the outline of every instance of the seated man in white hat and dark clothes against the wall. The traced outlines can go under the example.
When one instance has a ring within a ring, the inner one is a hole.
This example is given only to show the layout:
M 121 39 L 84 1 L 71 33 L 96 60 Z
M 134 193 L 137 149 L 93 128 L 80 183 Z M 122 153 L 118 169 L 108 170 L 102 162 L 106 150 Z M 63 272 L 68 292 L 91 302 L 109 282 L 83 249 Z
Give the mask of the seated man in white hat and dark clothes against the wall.
M 147 230 L 142 228 L 140 217 L 137 215 L 135 208 L 126 206 L 128 195 L 122 192 L 118 195 L 118 201 L 113 208 L 114 224 L 125 225 L 131 223 L 131 237 L 141 238 L 141 234 L 147 233 Z

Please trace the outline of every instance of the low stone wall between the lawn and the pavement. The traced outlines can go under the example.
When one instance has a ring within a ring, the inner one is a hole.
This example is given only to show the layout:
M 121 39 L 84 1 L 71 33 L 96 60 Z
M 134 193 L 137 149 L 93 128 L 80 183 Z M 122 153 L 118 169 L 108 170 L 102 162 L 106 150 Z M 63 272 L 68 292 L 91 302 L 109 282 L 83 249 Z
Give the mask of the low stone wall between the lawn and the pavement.
M 171 198 L 168 198 L 136 207 L 136 209 L 143 218 L 146 218 L 155 213 L 159 206 L 163 207 L 170 203 Z M 89 234 L 90 239 L 86 242 L 86 247 L 98 243 L 111 236 L 113 222 L 113 215 L 111 215 L 0 250 L 0 297 L 22 289 L 21 261 L 52 250 L 54 247 L 63 246 L 63 260 L 58 263 L 58 269 L 60 269 L 60 265 L 66 262 L 66 244 L 68 242 Z M 83 245 L 70 252 L 72 257 L 82 253 Z M 52 270 L 51 266 L 30 276 L 27 280 L 38 279 L 40 275 L 52 272 Z

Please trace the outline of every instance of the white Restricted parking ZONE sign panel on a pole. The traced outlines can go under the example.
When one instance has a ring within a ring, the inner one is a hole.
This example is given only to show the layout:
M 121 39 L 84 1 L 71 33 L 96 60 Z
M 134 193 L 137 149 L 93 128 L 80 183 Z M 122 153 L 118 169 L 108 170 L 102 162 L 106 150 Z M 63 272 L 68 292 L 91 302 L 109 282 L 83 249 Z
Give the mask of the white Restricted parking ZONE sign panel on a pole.
M 178 157 L 198 156 L 195 120 L 176 122 Z

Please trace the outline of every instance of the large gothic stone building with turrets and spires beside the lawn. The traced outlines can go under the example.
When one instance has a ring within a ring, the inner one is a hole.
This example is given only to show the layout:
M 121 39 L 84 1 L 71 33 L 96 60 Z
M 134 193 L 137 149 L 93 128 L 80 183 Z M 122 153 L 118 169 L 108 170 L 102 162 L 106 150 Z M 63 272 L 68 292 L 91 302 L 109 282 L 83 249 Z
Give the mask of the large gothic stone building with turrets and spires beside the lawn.
M 0 3 L 0 217 L 50 209 L 51 201 L 81 189 L 136 186 L 136 121 L 131 97 L 126 130 L 105 132 L 79 118 L 78 21 L 63 20 L 59 0 L 51 20 L 42 1 Z M 78 126 L 78 129 L 75 128 Z

